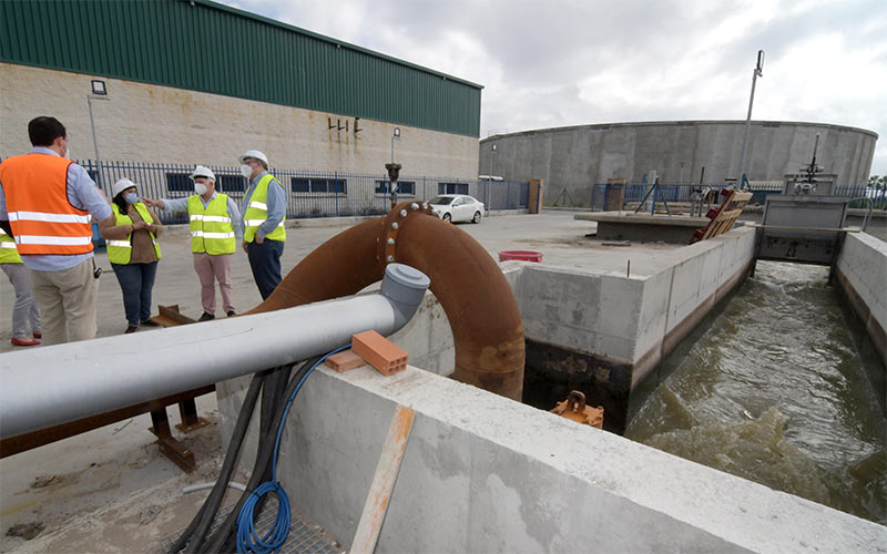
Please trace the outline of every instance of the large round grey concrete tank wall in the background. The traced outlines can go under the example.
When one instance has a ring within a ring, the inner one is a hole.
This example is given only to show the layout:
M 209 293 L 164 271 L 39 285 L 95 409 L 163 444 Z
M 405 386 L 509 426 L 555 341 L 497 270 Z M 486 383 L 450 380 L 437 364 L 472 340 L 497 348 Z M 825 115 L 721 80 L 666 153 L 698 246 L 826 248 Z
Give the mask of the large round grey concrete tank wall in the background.
M 508 181 L 546 179 L 546 203 L 567 188 L 588 206 L 595 183 L 640 182 L 655 170 L 663 183 L 723 182 L 740 174 L 745 122 L 676 121 L 543 129 L 496 135 L 480 142 L 479 172 Z M 751 181 L 782 179 L 808 164 L 816 134 L 817 163 L 842 185 L 865 185 L 878 137 L 871 131 L 825 123 L 754 121 L 746 174 Z M 497 151 L 491 154 L 496 144 Z M 682 167 L 683 165 L 683 167 Z

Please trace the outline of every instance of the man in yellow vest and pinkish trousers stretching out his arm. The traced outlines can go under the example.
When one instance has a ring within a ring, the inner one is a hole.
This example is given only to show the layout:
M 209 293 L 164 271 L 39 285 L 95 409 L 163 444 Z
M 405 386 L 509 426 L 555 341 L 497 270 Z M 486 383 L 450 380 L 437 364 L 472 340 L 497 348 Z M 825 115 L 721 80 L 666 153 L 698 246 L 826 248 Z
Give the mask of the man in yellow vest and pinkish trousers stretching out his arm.
M 243 220 L 237 204 L 216 192 L 215 173 L 198 165 L 191 173 L 194 194 L 185 198 L 144 198 L 145 204 L 167 212 L 187 212 L 191 225 L 191 252 L 194 270 L 201 281 L 200 321 L 215 319 L 215 281 L 222 293 L 222 308 L 228 317 L 234 311 L 231 287 L 231 258 L 243 239 Z

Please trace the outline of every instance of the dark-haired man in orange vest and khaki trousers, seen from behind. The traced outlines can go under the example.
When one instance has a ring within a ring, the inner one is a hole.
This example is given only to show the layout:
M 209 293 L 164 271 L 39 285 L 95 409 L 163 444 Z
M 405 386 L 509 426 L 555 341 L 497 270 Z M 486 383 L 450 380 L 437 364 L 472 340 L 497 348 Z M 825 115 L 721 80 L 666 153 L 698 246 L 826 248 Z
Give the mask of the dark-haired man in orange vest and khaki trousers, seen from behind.
M 101 228 L 113 225 L 114 215 L 86 171 L 68 160 L 59 120 L 34 117 L 28 135 L 33 148 L 0 164 L 0 227 L 28 268 L 43 343 L 95 338 L 99 281 L 90 216 Z

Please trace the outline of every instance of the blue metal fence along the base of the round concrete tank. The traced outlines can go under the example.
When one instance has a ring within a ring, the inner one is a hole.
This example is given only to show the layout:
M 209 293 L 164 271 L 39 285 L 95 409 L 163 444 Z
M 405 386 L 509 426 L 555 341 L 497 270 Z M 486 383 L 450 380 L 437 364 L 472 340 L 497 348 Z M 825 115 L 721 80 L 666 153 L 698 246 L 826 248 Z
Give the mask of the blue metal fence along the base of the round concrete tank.
M 613 209 L 614 205 L 621 204 L 618 209 L 626 209 L 629 205 L 632 208 L 638 205 L 644 195 L 650 191 L 652 185 L 644 183 L 629 183 L 624 185 L 602 183 L 595 184 L 591 194 L 591 209 L 592 212 L 603 212 L 605 209 Z M 720 193 L 727 186 L 735 186 L 734 183 L 706 183 L 704 185 L 694 184 L 662 184 L 651 193 L 646 199 L 650 202 L 654 199 L 656 203 L 689 203 L 693 193 L 711 187 L 716 193 Z M 752 199 L 750 204 L 764 204 L 767 195 L 782 194 L 782 184 L 761 184 L 754 185 L 748 188 L 752 192 Z M 853 208 L 868 208 L 868 202 L 861 198 L 871 198 L 875 209 L 887 209 L 887 191 L 884 188 L 876 189 L 867 186 L 835 186 L 834 194 L 836 196 L 846 196 L 847 198 L 860 198 L 849 203 Z

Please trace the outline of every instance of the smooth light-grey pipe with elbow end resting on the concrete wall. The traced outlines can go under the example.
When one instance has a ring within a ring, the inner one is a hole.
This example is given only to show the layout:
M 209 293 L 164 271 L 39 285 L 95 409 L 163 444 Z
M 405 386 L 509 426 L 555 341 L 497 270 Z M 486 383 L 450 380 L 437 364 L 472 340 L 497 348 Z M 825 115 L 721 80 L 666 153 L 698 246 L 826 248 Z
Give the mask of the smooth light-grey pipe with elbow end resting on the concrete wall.
M 0 356 L 0 439 L 292 363 L 397 331 L 428 277 L 386 270 L 379 294 Z

